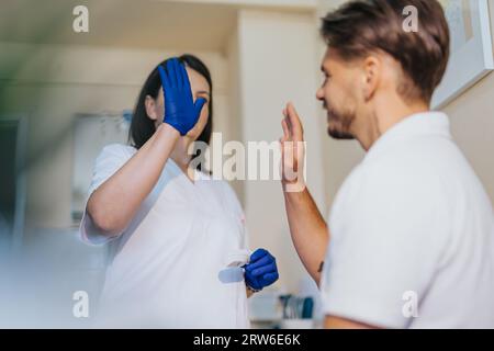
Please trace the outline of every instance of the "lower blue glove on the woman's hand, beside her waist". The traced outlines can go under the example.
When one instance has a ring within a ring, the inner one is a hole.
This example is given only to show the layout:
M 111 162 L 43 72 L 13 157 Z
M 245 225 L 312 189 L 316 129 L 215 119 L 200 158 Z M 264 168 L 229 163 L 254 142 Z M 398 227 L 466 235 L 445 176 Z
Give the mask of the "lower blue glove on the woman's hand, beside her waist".
M 258 249 L 250 256 L 250 262 L 244 265 L 245 283 L 254 291 L 274 283 L 278 275 L 277 260 L 265 249 Z

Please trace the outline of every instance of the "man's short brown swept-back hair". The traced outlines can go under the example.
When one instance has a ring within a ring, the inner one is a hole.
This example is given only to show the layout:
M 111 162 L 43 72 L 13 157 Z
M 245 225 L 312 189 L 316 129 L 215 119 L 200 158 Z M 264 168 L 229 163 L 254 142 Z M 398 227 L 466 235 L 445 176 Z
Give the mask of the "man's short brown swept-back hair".
M 403 27 L 403 11 L 418 12 L 418 31 Z M 449 59 L 449 27 L 437 0 L 353 0 L 329 12 L 321 34 L 330 49 L 345 60 L 384 52 L 401 65 L 405 79 L 398 93 L 407 101 L 430 102 Z

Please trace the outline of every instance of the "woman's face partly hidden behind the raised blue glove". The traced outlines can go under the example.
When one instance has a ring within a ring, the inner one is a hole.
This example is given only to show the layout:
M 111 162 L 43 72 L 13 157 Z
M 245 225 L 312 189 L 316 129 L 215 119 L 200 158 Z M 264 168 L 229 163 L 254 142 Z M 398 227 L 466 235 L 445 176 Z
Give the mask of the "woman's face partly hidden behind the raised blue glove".
M 211 100 L 211 88 L 207 83 L 207 80 L 198 71 L 186 66 L 187 75 L 189 76 L 190 88 L 192 91 L 192 98 L 195 102 L 197 99 L 203 98 L 206 100 L 204 106 L 201 110 L 201 115 L 199 116 L 198 123 L 195 126 L 189 131 L 187 134 L 188 137 L 195 140 L 201 135 L 202 131 L 204 131 L 205 125 L 207 124 L 207 118 L 210 117 L 210 100 Z M 166 92 L 165 92 L 166 93 Z M 149 97 L 148 97 L 149 99 Z M 155 120 L 155 125 L 158 127 L 162 123 L 162 117 L 165 116 L 165 99 L 162 94 L 162 88 L 159 88 L 158 98 L 153 100 L 155 103 L 147 105 L 148 116 L 151 120 Z M 150 111 L 149 111 L 150 110 Z

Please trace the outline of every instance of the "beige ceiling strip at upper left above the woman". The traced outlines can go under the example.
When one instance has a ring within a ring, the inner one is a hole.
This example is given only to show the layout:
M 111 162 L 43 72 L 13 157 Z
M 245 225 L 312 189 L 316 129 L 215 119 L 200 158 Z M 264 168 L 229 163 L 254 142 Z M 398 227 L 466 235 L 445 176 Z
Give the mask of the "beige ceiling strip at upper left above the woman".
M 72 9 L 89 10 L 89 33 L 75 33 Z M 162 0 L 0 0 L 0 42 L 143 49 L 222 49 L 236 8 Z

